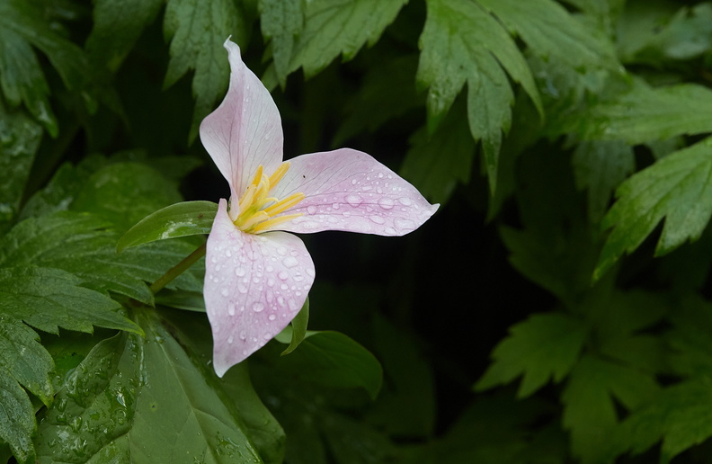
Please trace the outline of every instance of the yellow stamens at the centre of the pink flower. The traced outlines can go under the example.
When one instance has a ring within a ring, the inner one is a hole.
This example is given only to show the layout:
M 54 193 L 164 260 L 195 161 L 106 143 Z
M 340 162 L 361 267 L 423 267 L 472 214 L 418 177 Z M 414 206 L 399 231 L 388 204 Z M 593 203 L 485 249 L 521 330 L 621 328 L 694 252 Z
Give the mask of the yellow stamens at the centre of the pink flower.
M 263 174 L 263 165 L 257 167 L 252 183 L 247 185 L 245 193 L 240 197 L 240 215 L 234 221 L 237 228 L 249 234 L 259 234 L 303 214 L 285 214 L 275 218 L 276 215 L 304 200 L 302 192 L 292 193 L 282 200 L 268 196 L 288 169 L 289 161 L 285 161 L 274 171 L 274 174 L 267 177 Z

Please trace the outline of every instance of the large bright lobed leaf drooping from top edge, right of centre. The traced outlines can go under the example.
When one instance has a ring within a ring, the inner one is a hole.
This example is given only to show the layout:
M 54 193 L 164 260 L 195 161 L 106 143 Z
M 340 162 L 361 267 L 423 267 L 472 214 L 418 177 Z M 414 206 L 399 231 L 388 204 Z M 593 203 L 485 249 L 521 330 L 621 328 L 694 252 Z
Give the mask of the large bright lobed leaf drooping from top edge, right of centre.
M 494 192 L 502 131 L 507 132 L 512 123 L 514 94 L 507 75 L 522 85 L 542 113 L 537 87 L 512 37 L 479 4 L 454 0 L 427 4 L 416 77 L 420 85 L 429 87 L 428 127 L 432 132 L 440 124 L 467 82 L 470 131 L 483 142 Z

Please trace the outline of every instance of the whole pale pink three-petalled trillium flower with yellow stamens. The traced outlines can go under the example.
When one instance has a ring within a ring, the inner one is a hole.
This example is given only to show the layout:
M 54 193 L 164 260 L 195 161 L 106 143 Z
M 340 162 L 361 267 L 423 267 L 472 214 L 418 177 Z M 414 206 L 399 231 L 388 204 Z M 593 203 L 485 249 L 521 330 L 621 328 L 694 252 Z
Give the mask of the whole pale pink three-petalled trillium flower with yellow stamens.
M 225 42 L 225 100 L 200 124 L 200 140 L 230 186 L 206 250 L 205 308 L 218 376 L 266 344 L 302 308 L 314 263 L 298 236 L 345 230 L 402 236 L 439 205 L 373 157 L 350 148 L 282 161 L 280 113 Z

